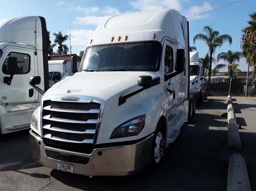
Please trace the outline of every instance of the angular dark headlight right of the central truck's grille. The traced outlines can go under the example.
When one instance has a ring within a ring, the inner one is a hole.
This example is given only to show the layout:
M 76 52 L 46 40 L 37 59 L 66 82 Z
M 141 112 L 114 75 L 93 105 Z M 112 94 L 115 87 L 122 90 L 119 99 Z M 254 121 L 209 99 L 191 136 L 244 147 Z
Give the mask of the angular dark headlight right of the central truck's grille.
M 124 122 L 113 130 L 110 139 L 137 136 L 144 128 L 145 119 L 146 116 L 143 115 Z

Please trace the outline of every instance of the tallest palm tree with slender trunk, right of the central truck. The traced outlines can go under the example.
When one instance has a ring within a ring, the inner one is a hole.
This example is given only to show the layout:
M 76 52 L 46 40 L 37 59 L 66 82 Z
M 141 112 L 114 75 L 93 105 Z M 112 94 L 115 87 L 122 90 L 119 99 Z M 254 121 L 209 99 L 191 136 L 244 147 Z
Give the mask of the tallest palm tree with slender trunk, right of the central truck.
M 212 72 L 212 55 L 214 55 L 217 47 L 221 47 L 224 42 L 229 42 L 229 45 L 232 44 L 232 37 L 229 34 L 220 35 L 219 31 L 214 31 L 210 26 L 204 26 L 203 33 L 196 34 L 193 38 L 193 43 L 195 44 L 196 40 L 203 40 L 209 48 L 210 53 L 210 63 L 209 63 L 209 79 L 210 83 L 210 74 Z

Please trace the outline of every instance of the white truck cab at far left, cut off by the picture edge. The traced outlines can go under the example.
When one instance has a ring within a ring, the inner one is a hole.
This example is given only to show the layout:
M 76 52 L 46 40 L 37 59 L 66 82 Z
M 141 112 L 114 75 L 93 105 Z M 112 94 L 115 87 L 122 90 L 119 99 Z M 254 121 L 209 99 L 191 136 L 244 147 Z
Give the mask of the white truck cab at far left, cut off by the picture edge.
M 45 19 L 36 16 L 10 18 L 0 26 L 1 134 L 30 128 L 42 97 L 28 83 L 31 76 L 40 76 L 39 88 L 48 88 L 45 32 Z

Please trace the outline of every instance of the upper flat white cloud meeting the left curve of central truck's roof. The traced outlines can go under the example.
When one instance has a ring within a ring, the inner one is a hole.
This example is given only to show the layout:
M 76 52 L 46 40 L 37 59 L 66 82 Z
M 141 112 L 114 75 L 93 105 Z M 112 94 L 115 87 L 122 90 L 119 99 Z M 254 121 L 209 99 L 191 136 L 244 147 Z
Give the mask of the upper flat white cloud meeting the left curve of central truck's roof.
M 73 21 L 73 23 L 80 24 L 80 25 L 98 26 L 99 24 L 103 23 L 105 20 L 107 20 L 107 18 L 110 18 L 110 17 L 112 17 L 112 15 L 102 16 L 102 17 L 87 15 L 85 17 L 75 17 L 75 20 Z

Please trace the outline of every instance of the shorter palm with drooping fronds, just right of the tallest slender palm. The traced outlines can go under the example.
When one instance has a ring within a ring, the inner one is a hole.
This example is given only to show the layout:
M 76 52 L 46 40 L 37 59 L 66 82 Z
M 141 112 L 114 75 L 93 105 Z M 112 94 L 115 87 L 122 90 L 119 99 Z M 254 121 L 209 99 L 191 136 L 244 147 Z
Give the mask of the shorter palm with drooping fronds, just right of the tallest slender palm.
M 229 66 L 229 77 L 233 76 L 233 69 L 232 69 L 232 65 L 234 64 L 234 62 L 239 62 L 241 58 L 241 52 L 233 52 L 233 51 L 228 51 L 228 52 L 221 52 L 220 54 L 218 54 L 217 56 L 217 61 L 219 62 L 220 60 L 223 60 L 224 62 L 228 63 Z

